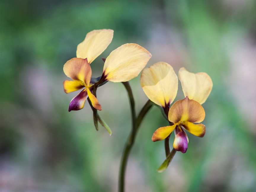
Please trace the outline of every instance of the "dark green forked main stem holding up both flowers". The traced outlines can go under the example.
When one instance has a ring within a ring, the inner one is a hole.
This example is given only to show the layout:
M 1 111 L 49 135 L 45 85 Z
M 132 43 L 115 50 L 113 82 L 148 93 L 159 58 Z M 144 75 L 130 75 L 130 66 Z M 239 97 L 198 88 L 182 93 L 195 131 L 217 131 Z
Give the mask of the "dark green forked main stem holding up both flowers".
M 129 82 L 122 82 L 124 84 L 124 87 L 127 90 L 128 96 L 129 96 L 129 101 L 130 101 L 130 107 L 131 107 L 131 113 L 132 113 L 132 131 L 129 135 L 129 138 L 124 146 L 124 151 L 121 159 L 121 164 L 120 164 L 120 169 L 119 169 L 119 192 L 124 192 L 124 187 L 125 187 L 125 171 L 126 171 L 126 166 L 127 166 L 127 161 L 129 158 L 130 151 L 132 149 L 132 146 L 135 141 L 135 137 L 138 131 L 138 128 L 149 111 L 149 109 L 152 107 L 153 103 L 148 100 L 148 102 L 143 106 L 141 109 L 138 118 L 136 118 L 135 114 L 135 102 L 134 102 L 134 97 L 132 94 L 132 89 L 131 86 L 129 85 Z

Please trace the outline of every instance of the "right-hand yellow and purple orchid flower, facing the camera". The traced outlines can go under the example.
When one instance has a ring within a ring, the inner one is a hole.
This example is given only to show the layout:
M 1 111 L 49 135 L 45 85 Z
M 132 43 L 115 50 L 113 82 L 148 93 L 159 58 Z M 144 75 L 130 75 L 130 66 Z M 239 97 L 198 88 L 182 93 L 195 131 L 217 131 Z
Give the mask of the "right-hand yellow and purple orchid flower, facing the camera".
M 176 101 L 171 107 L 178 90 L 178 77 L 171 65 L 159 62 L 145 68 L 140 83 L 147 97 L 164 109 L 169 120 L 169 126 L 160 127 L 153 133 L 152 141 L 164 140 L 174 131 L 173 147 L 176 151 L 185 153 L 188 136 L 184 130 L 204 137 L 205 125 L 199 124 L 205 118 L 201 104 L 207 100 L 213 84 L 207 73 L 190 73 L 185 68 L 180 68 L 178 76 L 185 99 Z

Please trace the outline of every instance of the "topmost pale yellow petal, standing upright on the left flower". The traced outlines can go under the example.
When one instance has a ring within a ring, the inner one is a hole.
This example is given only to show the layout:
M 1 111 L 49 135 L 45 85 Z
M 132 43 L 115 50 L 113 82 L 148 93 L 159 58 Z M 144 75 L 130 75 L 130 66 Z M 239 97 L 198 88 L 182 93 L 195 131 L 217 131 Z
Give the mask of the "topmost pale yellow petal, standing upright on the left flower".
M 93 30 L 85 36 L 83 42 L 78 44 L 76 57 L 87 58 L 92 63 L 111 43 L 114 31 L 112 29 Z

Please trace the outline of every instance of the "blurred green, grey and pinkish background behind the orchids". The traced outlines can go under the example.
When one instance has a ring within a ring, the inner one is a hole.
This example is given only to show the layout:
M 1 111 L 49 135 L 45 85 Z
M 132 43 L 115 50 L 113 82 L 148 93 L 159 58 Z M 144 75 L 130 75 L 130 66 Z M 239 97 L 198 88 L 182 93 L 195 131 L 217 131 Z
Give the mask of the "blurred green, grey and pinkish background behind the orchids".
M 0 2 L 0 191 L 117 191 L 118 170 L 131 127 L 127 93 L 108 82 L 97 92 L 99 114 L 113 131 L 97 132 L 88 105 L 68 112 L 63 64 L 93 29 L 111 28 L 110 46 L 137 43 L 175 72 L 207 72 L 203 138 L 189 136 L 164 173 L 164 142 L 152 133 L 166 125 L 153 107 L 140 127 L 127 167 L 127 191 L 255 191 L 256 1 L 13 1 Z M 147 101 L 140 75 L 130 81 L 138 112 Z M 182 99 L 179 83 L 176 97 Z M 172 145 L 173 134 L 170 139 Z

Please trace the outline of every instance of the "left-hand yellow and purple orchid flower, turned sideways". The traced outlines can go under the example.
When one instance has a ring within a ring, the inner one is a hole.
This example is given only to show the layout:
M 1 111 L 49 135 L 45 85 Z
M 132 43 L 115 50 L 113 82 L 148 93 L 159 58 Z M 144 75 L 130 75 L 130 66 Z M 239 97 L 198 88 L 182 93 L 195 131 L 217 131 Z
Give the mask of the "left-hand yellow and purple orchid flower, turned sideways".
M 65 75 L 72 79 L 63 82 L 64 92 L 70 93 L 84 88 L 71 100 L 68 111 L 84 108 L 87 97 L 95 109 L 102 110 L 99 101 L 92 93 L 93 86 L 97 82 L 92 79 L 90 64 L 111 43 L 113 33 L 114 31 L 111 29 L 93 30 L 87 33 L 84 41 L 77 46 L 76 57 L 64 64 Z M 103 73 L 98 82 L 103 84 L 105 81 L 129 81 L 138 76 L 150 58 L 150 52 L 138 44 L 121 45 L 105 59 Z

